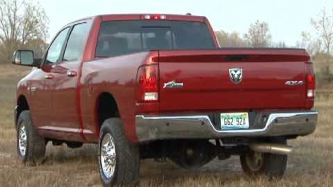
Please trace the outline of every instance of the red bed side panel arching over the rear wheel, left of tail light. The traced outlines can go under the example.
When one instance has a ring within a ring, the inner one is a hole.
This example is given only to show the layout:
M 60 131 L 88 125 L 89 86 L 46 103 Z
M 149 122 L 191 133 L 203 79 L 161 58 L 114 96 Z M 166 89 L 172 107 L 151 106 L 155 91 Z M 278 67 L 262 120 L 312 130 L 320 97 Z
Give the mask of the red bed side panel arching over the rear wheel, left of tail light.
M 135 118 L 135 79 L 140 65 L 157 52 L 143 52 L 85 62 L 82 67 L 81 103 L 84 129 L 94 132 L 94 140 L 99 135 L 95 109 L 102 93 L 110 93 L 117 102 L 124 124 L 125 133 L 131 140 L 137 140 Z

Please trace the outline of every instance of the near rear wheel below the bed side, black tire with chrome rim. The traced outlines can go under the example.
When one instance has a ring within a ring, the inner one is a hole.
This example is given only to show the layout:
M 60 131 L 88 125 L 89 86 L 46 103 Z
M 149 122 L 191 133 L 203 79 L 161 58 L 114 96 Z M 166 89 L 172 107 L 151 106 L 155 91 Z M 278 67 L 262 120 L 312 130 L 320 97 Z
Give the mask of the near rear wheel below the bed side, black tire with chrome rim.
M 139 182 L 139 147 L 130 143 L 119 118 L 109 118 L 100 129 L 99 170 L 103 185 L 137 185 Z

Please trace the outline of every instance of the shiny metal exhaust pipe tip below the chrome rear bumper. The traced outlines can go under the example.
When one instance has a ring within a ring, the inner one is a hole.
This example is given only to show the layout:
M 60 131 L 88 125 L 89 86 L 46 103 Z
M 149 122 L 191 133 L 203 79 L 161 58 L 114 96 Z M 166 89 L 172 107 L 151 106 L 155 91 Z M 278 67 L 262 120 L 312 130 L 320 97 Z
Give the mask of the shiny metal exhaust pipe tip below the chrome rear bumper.
M 253 143 L 250 144 L 249 147 L 255 152 L 273 153 L 279 155 L 287 155 L 293 150 L 293 147 L 289 145 L 271 143 Z

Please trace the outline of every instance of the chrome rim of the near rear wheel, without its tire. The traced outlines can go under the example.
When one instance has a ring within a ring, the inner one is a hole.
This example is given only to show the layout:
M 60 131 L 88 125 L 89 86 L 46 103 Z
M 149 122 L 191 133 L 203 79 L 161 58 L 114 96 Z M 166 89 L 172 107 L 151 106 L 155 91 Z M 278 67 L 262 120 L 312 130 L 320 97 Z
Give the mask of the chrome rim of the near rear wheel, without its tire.
M 100 145 L 100 162 L 104 176 L 111 179 L 116 168 L 115 141 L 110 133 L 104 135 Z

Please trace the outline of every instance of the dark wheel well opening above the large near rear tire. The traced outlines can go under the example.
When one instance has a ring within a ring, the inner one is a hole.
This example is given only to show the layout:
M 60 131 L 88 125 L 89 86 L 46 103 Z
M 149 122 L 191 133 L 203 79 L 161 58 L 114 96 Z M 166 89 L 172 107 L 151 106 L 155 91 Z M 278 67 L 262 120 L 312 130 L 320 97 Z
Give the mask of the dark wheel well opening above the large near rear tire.
M 98 125 L 98 132 L 103 122 L 112 117 L 120 117 L 118 106 L 115 98 L 109 93 L 100 94 L 96 106 L 96 122 Z

